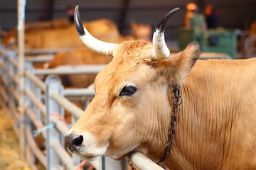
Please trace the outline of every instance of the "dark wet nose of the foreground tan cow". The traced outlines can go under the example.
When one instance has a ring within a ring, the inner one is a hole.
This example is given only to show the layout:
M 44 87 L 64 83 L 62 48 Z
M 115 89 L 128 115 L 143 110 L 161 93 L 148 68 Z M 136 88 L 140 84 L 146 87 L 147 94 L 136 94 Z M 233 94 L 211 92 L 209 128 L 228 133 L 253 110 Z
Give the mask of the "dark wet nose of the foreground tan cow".
M 83 137 L 82 135 L 67 135 L 65 137 L 65 144 L 70 150 L 70 152 L 79 152 L 82 145 Z

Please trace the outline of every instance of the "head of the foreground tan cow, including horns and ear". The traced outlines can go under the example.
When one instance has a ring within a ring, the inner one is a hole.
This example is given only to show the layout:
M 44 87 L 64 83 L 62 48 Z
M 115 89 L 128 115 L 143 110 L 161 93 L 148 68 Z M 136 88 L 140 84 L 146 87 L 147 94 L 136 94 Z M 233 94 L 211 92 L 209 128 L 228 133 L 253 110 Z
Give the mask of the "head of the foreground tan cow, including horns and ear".
M 164 27 L 176 11 L 158 23 L 153 43 L 113 44 L 93 38 L 82 26 L 76 7 L 81 40 L 113 60 L 97 74 L 95 97 L 65 137 L 70 152 L 92 160 L 98 156 L 122 159 L 138 150 L 155 161 L 160 159 L 168 141 L 173 87 L 182 83 L 183 73 L 200 54 L 198 45 L 192 43 L 178 55 L 170 55 Z

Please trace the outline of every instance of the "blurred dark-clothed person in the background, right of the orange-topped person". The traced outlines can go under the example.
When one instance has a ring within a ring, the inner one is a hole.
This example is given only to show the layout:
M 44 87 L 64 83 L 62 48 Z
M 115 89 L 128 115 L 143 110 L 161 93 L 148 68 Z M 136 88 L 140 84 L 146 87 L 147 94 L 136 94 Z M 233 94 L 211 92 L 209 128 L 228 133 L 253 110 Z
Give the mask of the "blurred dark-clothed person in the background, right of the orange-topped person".
M 208 4 L 205 8 L 206 25 L 208 29 L 220 27 L 220 16 L 213 4 Z

